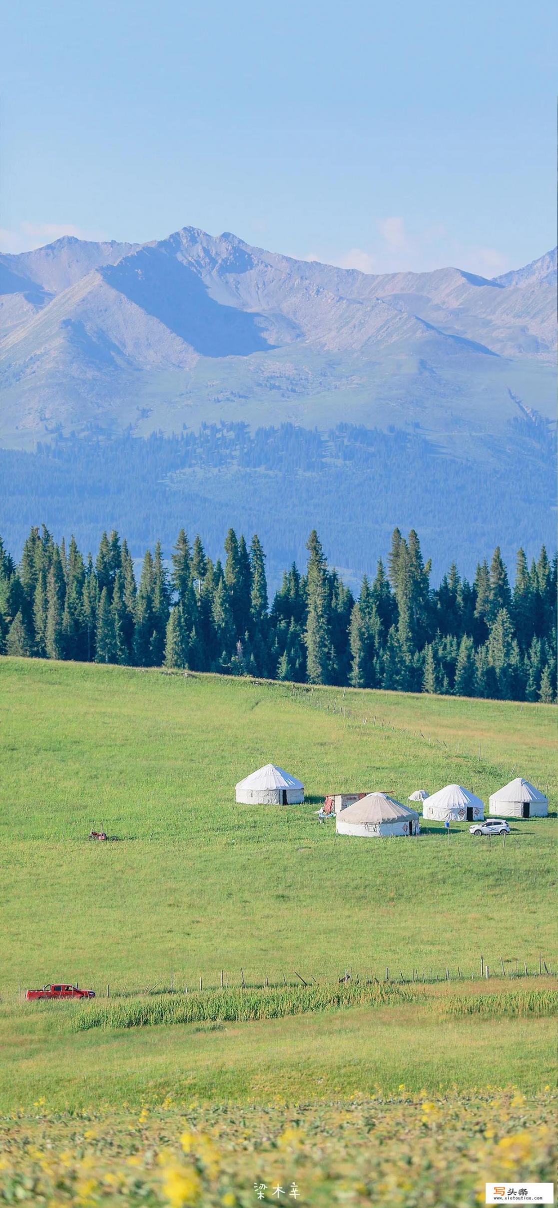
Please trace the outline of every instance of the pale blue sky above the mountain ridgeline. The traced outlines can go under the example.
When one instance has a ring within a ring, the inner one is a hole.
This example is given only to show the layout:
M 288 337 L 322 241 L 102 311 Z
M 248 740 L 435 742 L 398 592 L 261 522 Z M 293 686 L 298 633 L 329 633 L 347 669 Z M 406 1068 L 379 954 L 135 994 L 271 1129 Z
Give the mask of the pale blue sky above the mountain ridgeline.
M 550 0 L 12 0 L 1 248 L 182 226 L 367 272 L 553 246 Z

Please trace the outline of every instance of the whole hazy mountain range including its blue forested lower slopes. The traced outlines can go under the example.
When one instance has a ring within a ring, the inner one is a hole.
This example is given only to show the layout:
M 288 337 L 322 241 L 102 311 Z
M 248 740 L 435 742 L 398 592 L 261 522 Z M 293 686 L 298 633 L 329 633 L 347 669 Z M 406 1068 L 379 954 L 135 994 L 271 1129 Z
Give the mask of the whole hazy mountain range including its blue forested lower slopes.
M 556 285 L 556 249 L 378 277 L 192 227 L 2 255 L 4 533 L 168 550 L 184 521 L 215 554 L 232 523 L 274 573 L 316 525 L 355 582 L 396 523 L 469 573 L 496 540 L 553 544 Z

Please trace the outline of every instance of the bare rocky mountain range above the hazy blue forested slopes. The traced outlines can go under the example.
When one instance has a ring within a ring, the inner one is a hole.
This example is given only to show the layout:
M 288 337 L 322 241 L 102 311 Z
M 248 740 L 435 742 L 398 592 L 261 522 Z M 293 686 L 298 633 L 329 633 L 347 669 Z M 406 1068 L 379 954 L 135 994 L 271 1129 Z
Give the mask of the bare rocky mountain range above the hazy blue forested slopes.
M 551 417 L 556 275 L 556 250 L 494 280 L 374 277 L 192 227 L 4 255 L 0 439 L 343 418 L 457 447 L 522 403 Z

